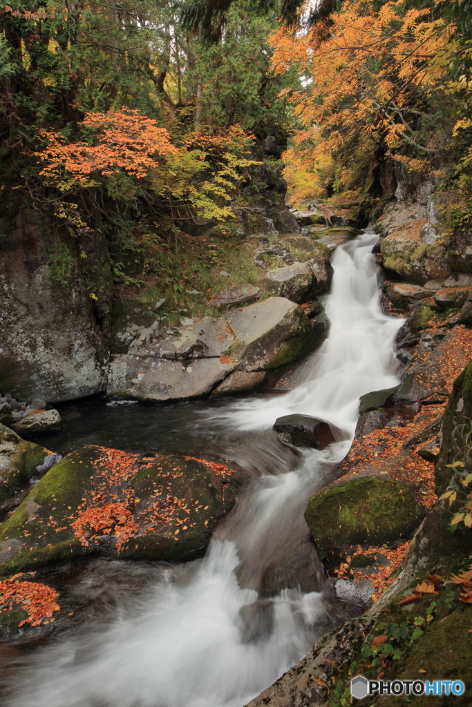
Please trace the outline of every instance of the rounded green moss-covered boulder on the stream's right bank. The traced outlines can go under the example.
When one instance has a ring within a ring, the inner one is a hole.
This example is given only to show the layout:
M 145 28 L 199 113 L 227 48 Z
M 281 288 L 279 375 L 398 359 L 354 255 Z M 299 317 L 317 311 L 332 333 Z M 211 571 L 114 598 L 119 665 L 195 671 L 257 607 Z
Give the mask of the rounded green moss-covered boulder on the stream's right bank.
M 321 559 L 343 546 L 408 537 L 424 517 L 405 486 L 381 477 L 328 486 L 311 496 L 305 511 Z

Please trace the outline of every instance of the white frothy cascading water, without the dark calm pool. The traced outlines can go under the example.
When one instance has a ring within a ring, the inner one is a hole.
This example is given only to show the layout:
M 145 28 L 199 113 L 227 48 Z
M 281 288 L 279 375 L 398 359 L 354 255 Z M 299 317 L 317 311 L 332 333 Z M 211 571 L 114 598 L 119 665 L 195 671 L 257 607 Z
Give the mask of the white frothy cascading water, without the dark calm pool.
M 287 395 L 245 399 L 214 414 L 213 423 L 239 430 L 309 414 L 332 423 L 338 443 L 304 450 L 294 471 L 256 479 L 190 582 L 173 583 L 169 573 L 145 602 L 100 633 L 38 652 L 20 674 L 10 707 L 242 707 L 326 630 L 322 592 L 282 590 L 266 600 L 269 629 L 248 639 L 241 610 L 258 606 L 258 592 L 241 588 L 235 570 L 241 558 L 263 566 L 277 543 L 289 542 L 310 493 L 350 448 L 359 397 L 398 382 L 393 340 L 402 322 L 379 306 L 376 240 L 365 234 L 335 252 L 330 332 L 306 363 L 304 382 Z

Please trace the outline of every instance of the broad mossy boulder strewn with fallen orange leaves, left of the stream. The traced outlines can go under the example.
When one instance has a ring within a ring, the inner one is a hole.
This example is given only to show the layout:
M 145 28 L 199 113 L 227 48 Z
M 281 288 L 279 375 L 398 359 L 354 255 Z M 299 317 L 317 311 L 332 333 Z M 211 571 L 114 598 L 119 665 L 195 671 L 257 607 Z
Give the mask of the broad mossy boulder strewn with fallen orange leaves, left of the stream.
M 202 554 L 234 500 L 235 475 L 175 455 L 148 460 L 94 445 L 71 452 L 0 525 L 0 576 L 91 553 Z

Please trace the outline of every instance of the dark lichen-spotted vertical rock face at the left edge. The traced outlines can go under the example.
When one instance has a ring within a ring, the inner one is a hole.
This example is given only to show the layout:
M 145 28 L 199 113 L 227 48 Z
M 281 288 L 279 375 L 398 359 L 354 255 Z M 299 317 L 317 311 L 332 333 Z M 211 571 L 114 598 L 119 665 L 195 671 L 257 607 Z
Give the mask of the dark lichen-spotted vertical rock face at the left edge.
M 8 204 L 0 215 L 0 390 L 60 402 L 106 388 L 108 346 L 76 259 L 50 279 L 47 218 Z M 75 245 L 75 244 L 73 244 Z

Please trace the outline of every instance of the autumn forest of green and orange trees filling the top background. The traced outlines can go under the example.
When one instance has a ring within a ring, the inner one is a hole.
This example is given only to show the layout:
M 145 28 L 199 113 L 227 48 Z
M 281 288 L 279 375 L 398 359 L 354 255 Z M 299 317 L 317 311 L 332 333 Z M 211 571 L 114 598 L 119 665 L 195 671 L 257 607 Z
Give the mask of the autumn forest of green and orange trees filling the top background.
M 50 278 L 67 286 L 79 267 L 99 322 L 110 288 L 151 288 L 169 309 L 205 290 L 270 216 L 267 189 L 283 201 L 282 175 L 293 202 L 347 192 L 366 222 L 398 170 L 428 175 L 456 192 L 450 228 L 467 229 L 470 10 L 1 2 L 4 204 L 47 216 Z

